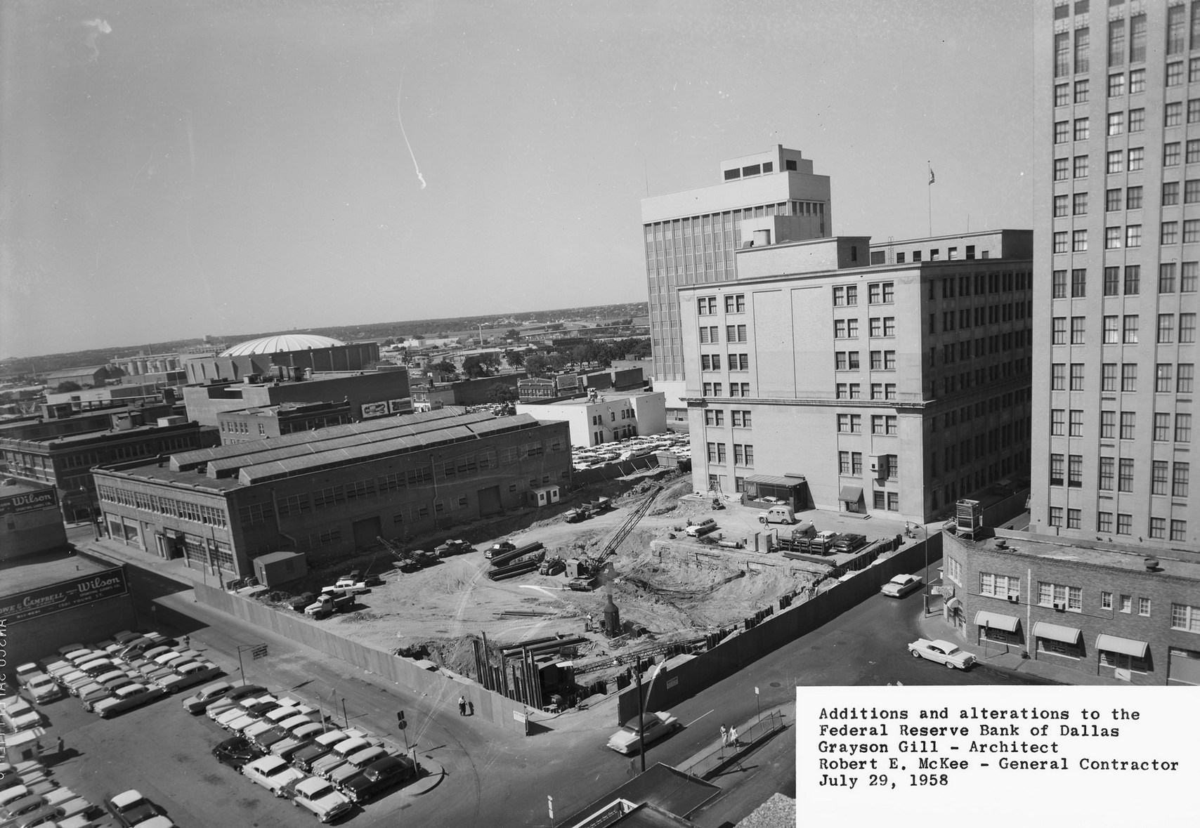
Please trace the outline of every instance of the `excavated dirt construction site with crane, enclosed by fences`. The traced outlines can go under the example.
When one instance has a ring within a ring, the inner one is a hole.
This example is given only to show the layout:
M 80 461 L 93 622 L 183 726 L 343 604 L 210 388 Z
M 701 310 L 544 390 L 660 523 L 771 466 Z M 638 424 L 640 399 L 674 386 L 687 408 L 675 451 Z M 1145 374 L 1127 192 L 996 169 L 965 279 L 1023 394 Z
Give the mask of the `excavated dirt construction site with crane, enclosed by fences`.
M 660 472 L 448 528 L 428 542 L 382 538 L 371 553 L 288 584 L 290 594 L 258 598 L 292 612 L 301 608 L 289 607 L 292 595 L 361 578 L 353 604 L 310 623 L 562 709 L 624 688 L 632 664 L 701 652 L 816 595 L 878 557 L 876 539 L 890 548 L 902 526 L 805 512 L 809 526 L 863 533 L 871 544 L 848 556 L 785 557 L 792 527 L 768 528 L 762 509 L 694 494 L 689 476 Z M 715 529 L 688 532 L 707 521 Z

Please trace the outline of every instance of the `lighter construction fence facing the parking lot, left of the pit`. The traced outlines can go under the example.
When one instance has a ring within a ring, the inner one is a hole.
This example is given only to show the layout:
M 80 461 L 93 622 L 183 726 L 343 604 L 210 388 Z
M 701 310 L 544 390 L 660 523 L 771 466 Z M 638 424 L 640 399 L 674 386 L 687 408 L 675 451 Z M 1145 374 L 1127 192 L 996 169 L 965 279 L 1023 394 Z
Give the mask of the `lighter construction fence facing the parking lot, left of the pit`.
M 505 730 L 524 732 L 524 706 L 479 686 L 474 682 L 451 678 L 442 673 L 421 670 L 408 659 L 385 650 L 350 641 L 324 630 L 298 614 L 288 614 L 206 584 L 196 584 L 199 601 L 276 635 L 312 647 L 326 655 L 341 659 L 355 667 L 370 671 L 395 682 L 413 692 L 427 696 L 437 706 L 457 706 L 458 696 L 466 696 L 475 704 L 475 715 L 491 719 Z M 515 716 L 514 713 L 517 715 Z

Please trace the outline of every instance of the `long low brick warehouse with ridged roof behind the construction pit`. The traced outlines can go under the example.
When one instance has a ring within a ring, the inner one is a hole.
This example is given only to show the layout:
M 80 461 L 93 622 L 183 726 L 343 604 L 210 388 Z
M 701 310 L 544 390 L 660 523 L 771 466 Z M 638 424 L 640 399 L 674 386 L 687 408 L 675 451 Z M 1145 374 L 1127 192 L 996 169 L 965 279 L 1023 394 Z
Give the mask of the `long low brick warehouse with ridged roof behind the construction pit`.
M 319 563 L 538 503 L 570 480 L 564 422 L 442 409 L 95 470 L 113 540 L 222 576 Z

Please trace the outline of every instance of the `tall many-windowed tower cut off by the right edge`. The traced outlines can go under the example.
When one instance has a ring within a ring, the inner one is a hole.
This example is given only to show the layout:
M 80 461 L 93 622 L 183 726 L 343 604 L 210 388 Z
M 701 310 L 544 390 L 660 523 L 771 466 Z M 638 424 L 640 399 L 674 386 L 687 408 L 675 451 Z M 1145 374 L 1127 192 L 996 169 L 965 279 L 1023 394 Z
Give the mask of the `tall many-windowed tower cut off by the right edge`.
M 1030 528 L 1196 550 L 1200 4 L 1037 16 Z

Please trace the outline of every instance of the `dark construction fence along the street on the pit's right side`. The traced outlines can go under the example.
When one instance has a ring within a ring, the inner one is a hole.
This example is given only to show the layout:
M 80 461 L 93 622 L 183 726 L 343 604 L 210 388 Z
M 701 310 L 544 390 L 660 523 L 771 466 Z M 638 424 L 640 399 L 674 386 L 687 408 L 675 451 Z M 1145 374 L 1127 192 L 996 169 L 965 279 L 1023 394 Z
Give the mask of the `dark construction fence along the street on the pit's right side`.
M 926 542 L 929 562 L 938 560 L 942 557 L 942 535 L 936 534 Z M 913 544 L 811 600 L 792 604 L 785 610 L 779 610 L 776 605 L 775 614 L 757 626 L 698 654 L 695 659 L 684 661 L 670 672 L 664 670 L 653 688 L 643 685 L 646 709 L 667 710 L 674 707 L 862 604 L 878 593 L 880 587 L 894 575 L 914 572 L 924 565 L 925 542 Z M 636 715 L 637 689 L 634 688 L 617 697 L 617 724 L 624 724 Z

